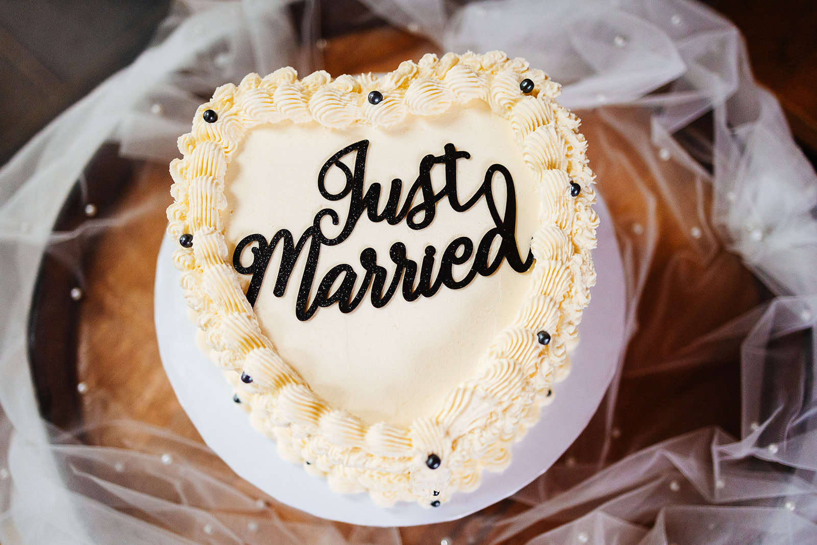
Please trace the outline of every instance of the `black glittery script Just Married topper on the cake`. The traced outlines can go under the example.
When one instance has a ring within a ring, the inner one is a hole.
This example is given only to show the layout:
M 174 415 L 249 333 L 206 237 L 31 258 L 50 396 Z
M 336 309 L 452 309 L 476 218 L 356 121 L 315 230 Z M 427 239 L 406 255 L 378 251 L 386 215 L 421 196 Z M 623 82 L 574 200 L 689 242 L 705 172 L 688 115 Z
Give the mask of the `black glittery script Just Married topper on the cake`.
M 301 321 L 310 319 L 320 307 L 332 306 L 335 303 L 342 313 L 349 313 L 364 300 L 369 288 L 371 288 L 369 299 L 372 306 L 381 308 L 386 306 L 386 303 L 395 296 L 398 290 L 406 301 L 412 302 L 419 297 L 431 297 L 442 287 L 465 288 L 477 275 L 493 275 L 502 265 L 503 260 L 507 260 L 508 265 L 520 273 L 533 266 L 533 252 L 528 252 L 528 256 L 523 261 L 516 243 L 516 191 L 511 172 L 507 168 L 498 163 L 491 165 L 485 172 L 484 181 L 479 188 L 466 202 L 461 203 L 457 185 L 457 161 L 470 159 L 471 154 L 457 150 L 453 144 L 446 144 L 444 154 L 439 156 L 428 154 L 423 157 L 419 167 L 419 176 L 408 188 L 402 204 L 403 181 L 399 178 L 392 180 L 386 205 L 382 211 L 378 212 L 382 185 L 373 182 L 368 185 L 368 190 L 364 191 L 368 145 L 368 140 L 347 145 L 324 163 L 318 175 L 318 190 L 324 199 L 328 201 L 349 199 L 346 221 L 339 235 L 334 237 L 324 235 L 321 227 L 324 217 L 328 217 L 334 226 L 341 223 L 341 217 L 333 208 L 324 208 L 315 214 L 312 225 L 303 232 L 297 242 L 288 229 L 280 229 L 269 241 L 264 235 L 256 233 L 244 237 L 236 245 L 233 252 L 234 269 L 239 274 L 252 275 L 247 290 L 247 300 L 251 306 L 254 306 L 257 301 L 266 270 L 275 249 L 279 246 L 282 248 L 282 255 L 275 279 L 275 288 L 273 288 L 275 297 L 283 297 L 296 262 L 301 254 L 306 252 L 306 266 L 298 288 L 295 307 L 295 315 Z M 355 154 L 353 168 L 342 161 L 351 154 Z M 444 165 L 445 185 L 442 189 L 435 191 L 431 184 L 431 169 L 438 164 Z M 326 187 L 326 176 L 333 169 L 337 169 L 346 179 L 346 183 L 337 193 L 333 193 Z M 497 177 L 504 181 L 505 185 L 506 199 L 502 213 L 500 213 L 493 194 L 493 183 Z M 413 204 L 417 198 L 420 199 L 420 202 Z M 395 264 L 396 269 L 391 281 L 388 279 L 389 273 L 386 267 L 377 263 L 377 251 L 374 248 L 364 248 L 359 256 L 360 266 L 364 273 L 361 275 L 362 280 L 356 292 L 355 284 L 359 275 L 355 267 L 341 263 L 333 266 L 323 279 L 319 280 L 315 297 L 310 302 L 321 248 L 343 243 L 350 237 L 364 214 L 368 221 L 373 223 L 386 221 L 389 225 L 396 226 L 405 222 L 412 230 L 422 230 L 431 225 L 436 214 L 437 203 L 440 201 L 445 199 L 455 212 L 466 212 L 483 198 L 493 220 L 493 228 L 484 234 L 479 243 L 474 243 L 465 236 L 453 239 L 441 252 L 440 265 L 439 268 L 436 268 L 436 278 L 434 278 L 434 270 L 437 248 L 434 246 L 427 245 L 425 255 L 417 262 L 408 257 L 404 243 L 393 243 L 389 250 L 389 258 Z M 496 239 L 499 239 L 500 243 L 492 259 L 491 248 L 497 246 L 494 244 Z M 245 266 L 242 263 L 242 256 L 248 247 L 251 247 L 253 258 L 252 262 Z M 454 279 L 453 267 L 466 263 L 471 257 L 474 258 L 471 269 L 462 279 Z

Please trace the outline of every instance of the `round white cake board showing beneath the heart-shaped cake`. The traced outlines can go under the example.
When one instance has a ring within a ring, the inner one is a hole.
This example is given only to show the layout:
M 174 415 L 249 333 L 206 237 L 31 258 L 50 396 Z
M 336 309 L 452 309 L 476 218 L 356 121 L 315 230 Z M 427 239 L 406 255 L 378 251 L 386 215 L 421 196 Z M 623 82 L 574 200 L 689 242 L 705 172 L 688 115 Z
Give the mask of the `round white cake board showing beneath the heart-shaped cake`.
M 511 466 L 501 474 L 485 471 L 480 488 L 456 493 L 440 507 L 417 503 L 377 507 L 368 494 L 336 494 L 326 480 L 280 458 L 275 442 L 250 427 L 221 370 L 196 346 L 196 328 L 188 318 L 179 273 L 172 266 L 177 241 L 166 237 L 156 266 L 154 311 L 167 377 L 204 442 L 239 476 L 280 502 L 355 525 L 426 525 L 467 516 L 547 471 L 587 426 L 614 375 L 623 348 L 624 272 L 609 212 L 601 199 L 594 208 L 600 217 L 598 248 L 593 251 L 598 280 L 592 303 L 584 310 L 581 342 L 569 376 L 556 384 L 553 403 L 542 409 L 538 424 L 514 445 Z

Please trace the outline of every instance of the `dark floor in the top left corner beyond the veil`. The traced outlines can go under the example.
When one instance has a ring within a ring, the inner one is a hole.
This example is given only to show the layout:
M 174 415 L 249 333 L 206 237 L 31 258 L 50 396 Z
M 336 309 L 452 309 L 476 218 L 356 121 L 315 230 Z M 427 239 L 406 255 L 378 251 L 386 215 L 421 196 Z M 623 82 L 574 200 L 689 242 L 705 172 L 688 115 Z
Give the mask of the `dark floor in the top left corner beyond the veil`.
M 168 0 L 2 0 L 0 164 L 145 49 Z

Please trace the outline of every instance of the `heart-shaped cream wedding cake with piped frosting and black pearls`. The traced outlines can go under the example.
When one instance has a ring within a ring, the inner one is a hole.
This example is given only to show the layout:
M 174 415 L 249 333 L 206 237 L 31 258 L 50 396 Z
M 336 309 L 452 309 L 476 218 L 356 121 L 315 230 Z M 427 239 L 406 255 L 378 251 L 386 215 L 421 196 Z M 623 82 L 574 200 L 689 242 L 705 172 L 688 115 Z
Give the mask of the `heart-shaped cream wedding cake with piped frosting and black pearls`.
M 436 507 L 565 376 L 598 219 L 559 86 L 494 51 L 219 87 L 171 163 L 203 342 L 279 453 Z

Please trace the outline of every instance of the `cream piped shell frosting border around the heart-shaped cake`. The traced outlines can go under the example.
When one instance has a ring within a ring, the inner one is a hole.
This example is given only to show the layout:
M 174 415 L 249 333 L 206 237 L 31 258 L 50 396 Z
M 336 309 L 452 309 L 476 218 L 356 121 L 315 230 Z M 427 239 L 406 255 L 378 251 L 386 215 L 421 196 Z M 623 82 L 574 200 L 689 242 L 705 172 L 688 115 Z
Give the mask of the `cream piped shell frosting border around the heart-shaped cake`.
M 525 78 L 534 82 L 533 92 L 520 91 Z M 382 102 L 367 101 L 372 91 L 382 93 Z M 265 78 L 249 74 L 238 87 L 219 87 L 199 107 L 191 132 L 178 141 L 184 157 L 170 168 L 175 202 L 167 208 L 167 232 L 174 239 L 194 237 L 191 248 L 176 248 L 173 262 L 197 325 L 248 407 L 253 427 L 277 441 L 283 458 L 326 477 L 339 493 L 368 491 L 382 506 L 412 500 L 439 505 L 456 490 L 479 486 L 483 470 L 507 467 L 511 444 L 538 421 L 553 382 L 569 369 L 569 351 L 596 280 L 594 175 L 579 120 L 556 103 L 559 92 L 558 84 L 525 60 L 492 51 L 426 55 L 380 78 L 333 80 L 319 71 L 298 80 L 291 68 Z M 225 243 L 226 168 L 246 132 L 261 124 L 393 127 L 470 101 L 484 101 L 510 121 L 542 197 L 525 301 L 480 360 L 475 377 L 452 391 L 438 413 L 408 427 L 385 422 L 367 427 L 315 395 L 261 333 Z M 208 109 L 217 113 L 215 123 L 203 120 Z M 571 182 L 581 187 L 575 197 Z M 540 331 L 551 335 L 547 346 L 538 342 Z M 252 382 L 241 382 L 242 373 Z M 431 454 L 440 460 L 434 469 L 427 463 Z

